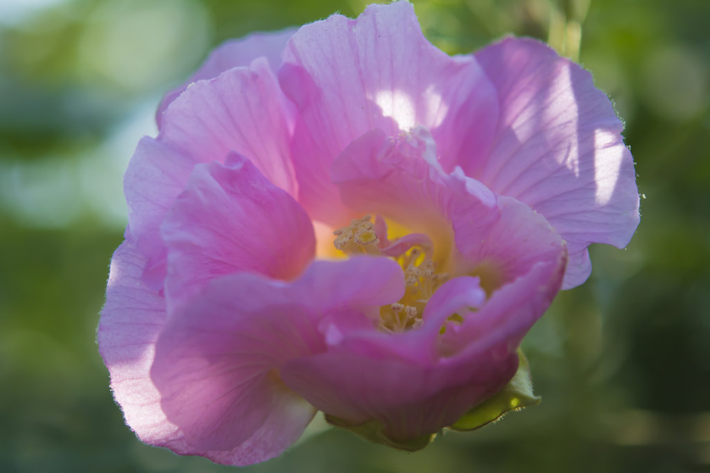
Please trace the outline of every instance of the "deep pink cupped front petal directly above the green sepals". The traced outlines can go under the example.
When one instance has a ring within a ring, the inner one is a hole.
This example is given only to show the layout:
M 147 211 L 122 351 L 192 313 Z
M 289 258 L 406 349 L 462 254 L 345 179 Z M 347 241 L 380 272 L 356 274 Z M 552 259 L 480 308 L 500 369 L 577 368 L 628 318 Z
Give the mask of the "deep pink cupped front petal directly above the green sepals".
M 535 263 L 486 303 L 476 278 L 456 278 L 427 304 L 425 327 L 433 330 L 349 332 L 327 353 L 288 362 L 282 377 L 313 406 L 351 425 L 378 420 L 393 440 L 436 433 L 510 381 L 520 340 L 562 284 L 565 256 Z M 453 313 L 464 315 L 464 324 L 449 323 L 444 335 L 431 337 Z M 435 356 L 427 342 L 436 343 Z

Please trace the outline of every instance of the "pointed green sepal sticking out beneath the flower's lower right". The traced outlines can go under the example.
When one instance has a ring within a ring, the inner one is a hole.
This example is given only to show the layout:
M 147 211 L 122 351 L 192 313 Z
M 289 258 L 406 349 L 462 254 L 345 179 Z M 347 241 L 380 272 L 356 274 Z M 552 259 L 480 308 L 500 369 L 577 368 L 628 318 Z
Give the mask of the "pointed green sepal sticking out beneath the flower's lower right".
M 524 407 L 539 404 L 540 396 L 532 393 L 532 379 L 530 379 L 530 365 L 523 352 L 518 349 L 518 371 L 515 376 L 501 391 L 494 394 L 486 401 L 465 413 L 450 428 L 453 430 L 475 430 L 495 422 L 510 411 L 518 411 Z

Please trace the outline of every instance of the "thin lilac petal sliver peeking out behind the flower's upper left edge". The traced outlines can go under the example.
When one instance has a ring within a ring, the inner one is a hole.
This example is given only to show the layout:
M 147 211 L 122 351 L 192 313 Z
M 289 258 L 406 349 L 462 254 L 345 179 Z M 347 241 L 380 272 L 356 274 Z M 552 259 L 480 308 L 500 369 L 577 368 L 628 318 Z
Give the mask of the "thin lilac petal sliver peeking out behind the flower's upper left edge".
M 244 38 L 226 40 L 222 45 L 217 46 L 209 53 L 200 69 L 190 76 L 184 84 L 170 90 L 158 105 L 158 112 L 155 114 L 155 121 L 160 128 L 163 119 L 163 112 L 173 100 L 180 97 L 182 92 L 193 82 L 198 80 L 214 79 L 222 72 L 234 67 L 246 67 L 256 58 L 264 57 L 268 60 L 271 70 L 276 72 L 281 65 L 281 53 L 285 48 L 288 38 L 293 36 L 297 28 L 285 28 L 280 31 L 269 31 L 267 33 L 251 33 Z

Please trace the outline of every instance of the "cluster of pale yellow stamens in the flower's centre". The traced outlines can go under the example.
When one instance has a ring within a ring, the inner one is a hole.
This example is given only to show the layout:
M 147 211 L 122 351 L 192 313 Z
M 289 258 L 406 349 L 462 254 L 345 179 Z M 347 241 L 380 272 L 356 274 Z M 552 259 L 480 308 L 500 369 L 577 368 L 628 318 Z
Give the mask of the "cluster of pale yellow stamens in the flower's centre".
M 347 227 L 337 229 L 334 245 L 345 254 L 388 256 L 397 261 L 405 276 L 405 295 L 398 303 L 380 308 L 379 327 L 383 332 L 403 332 L 422 325 L 422 314 L 427 302 L 443 283 L 447 273 L 437 273 L 432 261 L 434 248 L 424 234 L 408 234 L 390 241 L 384 219 L 376 223 L 366 215 L 354 219 Z

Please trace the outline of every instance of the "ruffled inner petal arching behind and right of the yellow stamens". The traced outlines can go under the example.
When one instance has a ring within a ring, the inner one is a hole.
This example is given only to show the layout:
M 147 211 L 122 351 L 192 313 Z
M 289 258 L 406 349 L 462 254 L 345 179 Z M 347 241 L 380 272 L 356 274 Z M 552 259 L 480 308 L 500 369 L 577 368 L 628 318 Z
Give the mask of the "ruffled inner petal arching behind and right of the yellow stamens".
M 343 202 L 432 236 L 440 271 L 475 273 L 489 292 L 564 251 L 555 230 L 527 205 L 493 195 L 460 170 L 444 174 L 427 158 L 426 141 L 425 130 L 393 138 L 378 129 L 353 141 L 331 169 Z

